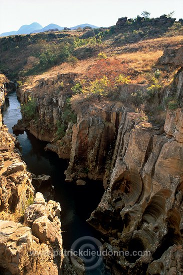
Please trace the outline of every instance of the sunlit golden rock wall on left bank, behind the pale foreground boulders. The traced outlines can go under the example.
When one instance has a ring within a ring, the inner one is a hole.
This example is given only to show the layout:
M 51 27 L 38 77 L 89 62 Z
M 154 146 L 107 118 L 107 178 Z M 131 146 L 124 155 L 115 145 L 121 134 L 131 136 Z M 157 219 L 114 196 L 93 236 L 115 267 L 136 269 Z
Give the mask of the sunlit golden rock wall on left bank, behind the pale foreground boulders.
M 7 94 L 8 79 L 2 84 L 2 105 Z M 1 211 L 19 211 L 25 209 L 27 201 L 34 195 L 31 184 L 31 173 L 27 171 L 26 163 L 21 160 L 15 148 L 16 138 L 2 124 L 0 113 L 0 209 Z

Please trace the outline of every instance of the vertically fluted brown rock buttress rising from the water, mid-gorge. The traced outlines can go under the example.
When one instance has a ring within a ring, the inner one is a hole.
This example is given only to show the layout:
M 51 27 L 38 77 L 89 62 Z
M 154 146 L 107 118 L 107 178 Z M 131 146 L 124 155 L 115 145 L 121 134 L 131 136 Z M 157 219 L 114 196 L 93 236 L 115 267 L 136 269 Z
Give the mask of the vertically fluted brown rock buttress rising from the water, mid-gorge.
M 72 147 L 66 181 L 73 178 L 103 179 L 107 160 L 114 148 L 121 103 L 90 106 L 86 113 L 78 113 L 72 128 Z

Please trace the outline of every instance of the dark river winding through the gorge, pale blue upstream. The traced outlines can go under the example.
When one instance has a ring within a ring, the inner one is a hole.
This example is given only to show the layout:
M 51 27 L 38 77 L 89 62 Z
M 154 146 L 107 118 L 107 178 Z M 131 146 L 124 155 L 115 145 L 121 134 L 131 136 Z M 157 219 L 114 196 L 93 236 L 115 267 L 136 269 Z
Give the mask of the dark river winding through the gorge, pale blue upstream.
M 20 102 L 16 91 L 9 93 L 3 112 L 4 124 L 12 133 L 12 126 L 20 119 Z M 90 226 L 86 219 L 97 207 L 104 188 L 101 182 L 88 181 L 85 186 L 76 186 L 74 183 L 65 182 L 64 171 L 68 161 L 60 159 L 51 151 L 45 151 L 47 142 L 40 141 L 28 131 L 16 133 L 22 146 L 22 155 L 30 172 L 39 175 L 47 174 L 52 177 L 55 188 L 55 200 L 61 205 L 61 222 L 63 230 L 63 244 L 70 249 L 72 243 L 80 237 L 92 236 L 100 239 L 99 233 Z M 93 272 L 92 272 L 93 273 Z M 99 274 L 94 272 L 93 274 Z M 100 273 L 101 274 L 101 273 Z

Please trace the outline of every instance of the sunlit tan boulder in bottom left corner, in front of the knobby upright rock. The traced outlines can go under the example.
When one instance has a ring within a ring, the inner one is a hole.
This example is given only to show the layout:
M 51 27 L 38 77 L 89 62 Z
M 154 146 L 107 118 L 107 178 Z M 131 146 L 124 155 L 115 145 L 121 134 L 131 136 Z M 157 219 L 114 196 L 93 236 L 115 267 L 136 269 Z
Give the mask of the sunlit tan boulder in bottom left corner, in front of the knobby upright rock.
M 55 256 L 56 252 L 60 256 Z M 60 273 L 61 264 L 61 247 L 40 244 L 28 226 L 0 220 L 0 266 L 5 274 L 55 275 Z

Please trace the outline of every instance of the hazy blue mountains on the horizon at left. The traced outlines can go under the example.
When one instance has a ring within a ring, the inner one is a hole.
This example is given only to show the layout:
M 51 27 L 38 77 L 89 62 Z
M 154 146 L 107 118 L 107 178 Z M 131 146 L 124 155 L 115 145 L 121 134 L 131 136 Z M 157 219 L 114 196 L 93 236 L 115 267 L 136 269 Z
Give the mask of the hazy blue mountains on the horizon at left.
M 92 28 L 98 28 L 95 25 L 91 25 L 91 24 L 81 24 L 81 25 L 77 25 L 77 26 L 73 26 L 71 27 L 71 29 L 76 29 L 78 27 L 85 27 L 85 26 L 90 26 Z M 59 26 L 57 24 L 49 24 L 45 27 L 43 27 L 42 25 L 40 25 L 37 22 L 34 22 L 30 25 L 23 25 L 19 28 L 19 30 L 13 30 L 13 31 L 8 31 L 8 32 L 3 32 L 2 34 L 0 34 L 0 36 L 8 36 L 8 35 L 15 35 L 15 34 L 29 34 L 29 33 L 38 33 L 38 32 L 44 32 L 46 30 L 49 29 L 55 29 L 58 28 L 59 30 L 64 29 L 63 26 Z

